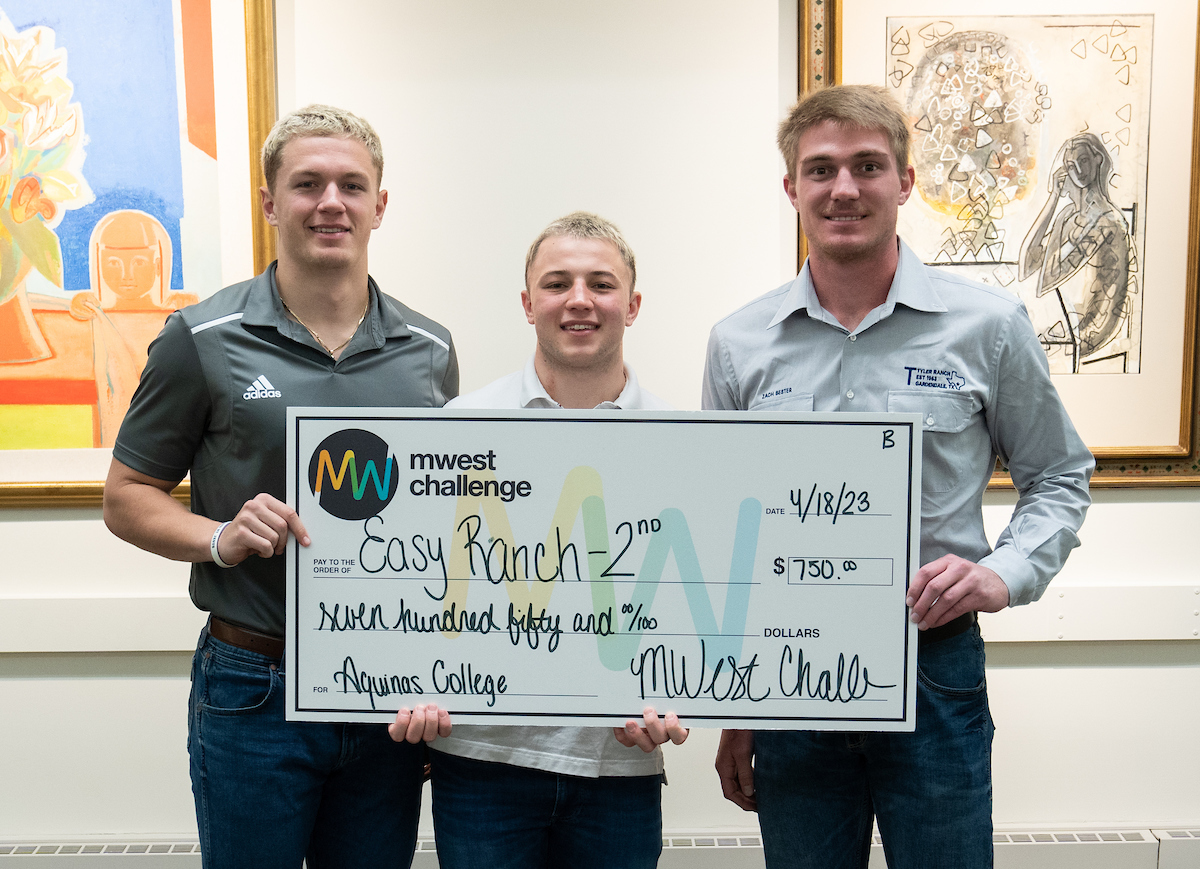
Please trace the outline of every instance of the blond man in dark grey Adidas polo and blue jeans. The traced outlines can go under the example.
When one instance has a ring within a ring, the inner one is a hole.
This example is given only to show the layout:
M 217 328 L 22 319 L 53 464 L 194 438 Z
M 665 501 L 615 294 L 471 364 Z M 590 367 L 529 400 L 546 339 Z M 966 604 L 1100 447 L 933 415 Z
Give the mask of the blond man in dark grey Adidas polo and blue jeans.
M 378 725 L 288 723 L 284 559 L 308 535 L 283 502 L 287 408 L 440 407 L 458 391 L 450 334 L 367 274 L 383 220 L 371 126 L 310 106 L 263 145 L 263 212 L 278 260 L 172 314 L 150 348 L 113 449 L 104 521 L 120 538 L 192 562 L 211 613 L 192 665 L 188 753 L 205 867 L 407 867 L 422 739 L 445 713 Z M 192 510 L 170 497 L 191 473 Z

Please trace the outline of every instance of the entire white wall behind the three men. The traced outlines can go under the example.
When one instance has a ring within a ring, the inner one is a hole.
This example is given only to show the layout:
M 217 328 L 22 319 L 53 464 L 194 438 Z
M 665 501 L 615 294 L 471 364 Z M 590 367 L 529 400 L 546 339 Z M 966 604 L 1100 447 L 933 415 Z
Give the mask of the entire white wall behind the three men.
M 391 203 L 372 271 L 450 326 L 463 386 L 530 350 L 524 250 L 587 208 L 638 253 L 629 358 L 650 389 L 697 407 L 709 325 L 794 274 L 772 144 L 794 90 L 794 4 L 326 10 L 280 2 L 283 108 L 326 100 L 379 127 Z M 1200 822 L 1200 641 L 1187 639 L 1200 491 L 1097 502 L 1046 599 L 986 625 L 1000 826 Z M 988 504 L 995 535 L 1012 496 Z M 186 567 L 116 541 L 98 510 L 0 511 L 0 840 L 194 835 L 186 649 L 202 618 Z M 720 799 L 714 749 L 715 732 L 696 731 L 668 751 L 670 831 L 754 827 Z

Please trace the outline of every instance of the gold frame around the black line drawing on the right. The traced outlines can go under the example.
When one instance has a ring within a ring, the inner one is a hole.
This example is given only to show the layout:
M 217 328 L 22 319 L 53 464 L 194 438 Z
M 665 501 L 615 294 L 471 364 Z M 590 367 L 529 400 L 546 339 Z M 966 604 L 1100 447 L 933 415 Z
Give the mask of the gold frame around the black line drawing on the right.
M 1051 2 L 1044 14 L 1073 14 L 1074 8 L 1067 8 L 1064 2 Z M 1062 7 L 1062 8 L 1056 8 Z M 799 2 L 799 64 L 798 90 L 800 94 L 842 82 L 844 22 L 859 23 L 864 14 L 871 14 L 868 0 L 800 0 Z M 887 11 L 887 17 L 904 14 L 894 5 Z M 851 18 L 853 17 L 853 18 Z M 883 34 L 886 20 L 870 20 L 871 32 Z M 881 40 L 880 46 L 883 42 Z M 870 50 L 875 50 L 874 48 Z M 1196 38 L 1193 42 L 1190 58 L 1195 70 L 1195 80 L 1200 83 L 1200 5 L 1198 5 Z M 883 68 L 881 66 L 881 68 Z M 881 76 L 882 78 L 882 76 Z M 858 79 L 862 80 L 862 79 Z M 1198 486 L 1200 485 L 1200 395 L 1198 395 L 1198 342 L 1196 328 L 1200 323 L 1200 294 L 1198 294 L 1198 271 L 1200 271 L 1200 86 L 1194 89 L 1192 100 L 1192 140 L 1190 140 L 1190 184 L 1188 193 L 1187 223 L 1187 264 L 1182 292 L 1182 353 L 1178 360 L 1182 372 L 1180 391 L 1178 436 L 1174 443 L 1150 445 L 1121 445 L 1096 448 L 1097 469 L 1092 486 L 1097 489 L 1135 489 L 1154 486 Z M 799 233 L 799 262 L 803 264 L 806 245 L 803 233 Z M 997 472 L 992 477 L 992 489 L 1010 489 L 1008 475 Z

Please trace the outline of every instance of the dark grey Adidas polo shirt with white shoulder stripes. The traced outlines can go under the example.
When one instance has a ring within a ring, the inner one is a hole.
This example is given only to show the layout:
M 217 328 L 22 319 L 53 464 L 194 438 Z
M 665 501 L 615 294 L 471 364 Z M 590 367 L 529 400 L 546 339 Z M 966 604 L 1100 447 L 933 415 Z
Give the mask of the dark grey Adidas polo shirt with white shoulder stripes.
M 233 519 L 284 498 L 287 408 L 442 407 L 458 394 L 450 332 L 368 278 L 366 319 L 336 361 L 287 317 L 275 266 L 167 318 L 113 456 L 160 480 L 192 475 L 192 511 Z M 202 610 L 283 636 L 284 557 L 192 565 Z

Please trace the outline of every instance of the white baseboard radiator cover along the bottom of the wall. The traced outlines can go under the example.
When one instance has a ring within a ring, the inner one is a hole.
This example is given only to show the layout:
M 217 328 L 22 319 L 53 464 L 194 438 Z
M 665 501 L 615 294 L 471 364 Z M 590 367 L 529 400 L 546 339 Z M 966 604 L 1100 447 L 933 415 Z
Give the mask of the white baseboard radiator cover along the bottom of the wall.
M 994 835 L 996 869 L 1195 869 L 1200 828 L 1006 831 Z M 0 841 L 0 869 L 192 869 L 200 846 L 179 839 Z M 433 839 L 416 843 L 413 869 L 437 869 Z M 763 869 L 762 840 L 745 833 L 672 834 L 662 840 L 661 869 Z M 876 834 L 870 869 L 886 869 Z

